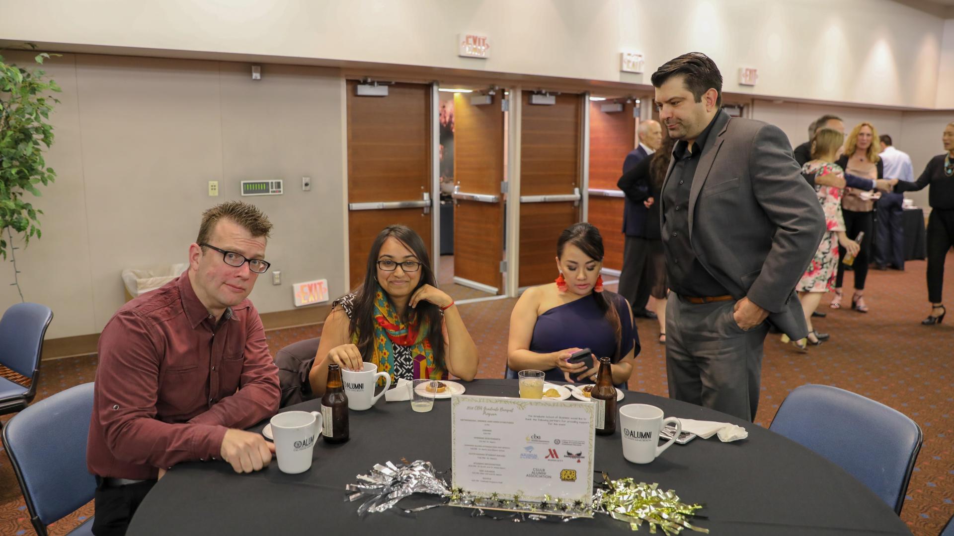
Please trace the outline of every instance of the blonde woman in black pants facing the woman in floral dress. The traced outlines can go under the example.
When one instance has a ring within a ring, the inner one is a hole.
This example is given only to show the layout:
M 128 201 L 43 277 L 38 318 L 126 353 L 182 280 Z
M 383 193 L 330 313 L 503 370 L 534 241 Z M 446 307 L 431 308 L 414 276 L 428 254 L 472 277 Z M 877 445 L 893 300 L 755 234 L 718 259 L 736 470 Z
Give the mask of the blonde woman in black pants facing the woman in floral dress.
M 844 142 L 844 154 L 838 159 L 838 164 L 844 173 L 865 178 L 884 178 L 884 165 L 881 162 L 881 141 L 878 139 L 878 130 L 868 122 L 859 123 Z M 864 233 L 861 239 L 861 251 L 855 258 L 855 293 L 851 297 L 851 308 L 859 313 L 867 313 L 868 305 L 864 302 L 864 279 L 868 276 L 868 257 L 871 252 L 871 240 L 874 231 L 875 200 L 880 194 L 870 195 L 854 188 L 846 188 L 841 197 L 841 214 L 844 216 L 844 227 L 848 237 L 855 240 L 859 233 Z M 845 249 L 839 247 L 840 258 L 844 258 Z M 838 275 L 835 278 L 835 299 L 831 307 L 841 307 L 841 280 L 844 278 L 844 264 L 839 262 Z

